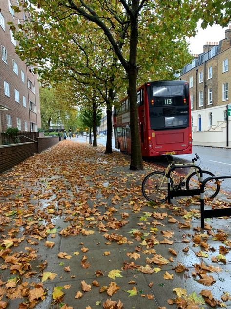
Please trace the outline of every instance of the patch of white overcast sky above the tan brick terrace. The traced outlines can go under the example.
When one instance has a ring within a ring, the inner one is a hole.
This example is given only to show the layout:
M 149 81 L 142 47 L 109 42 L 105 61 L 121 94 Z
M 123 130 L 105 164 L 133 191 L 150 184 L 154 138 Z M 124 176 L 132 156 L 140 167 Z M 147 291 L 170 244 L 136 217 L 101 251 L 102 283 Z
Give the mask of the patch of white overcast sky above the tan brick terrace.
M 219 42 L 224 39 L 226 29 L 227 28 L 222 28 L 219 25 L 209 26 L 206 29 L 202 29 L 198 26 L 197 35 L 189 39 L 190 51 L 193 54 L 201 54 L 203 52 L 203 45 L 206 45 L 206 42 Z

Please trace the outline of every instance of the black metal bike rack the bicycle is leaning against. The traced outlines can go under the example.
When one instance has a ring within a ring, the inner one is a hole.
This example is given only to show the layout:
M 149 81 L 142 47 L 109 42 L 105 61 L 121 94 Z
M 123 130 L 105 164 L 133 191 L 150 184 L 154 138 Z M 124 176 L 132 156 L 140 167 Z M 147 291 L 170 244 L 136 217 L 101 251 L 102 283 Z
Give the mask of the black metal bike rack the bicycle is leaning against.
M 173 165 L 170 170 L 168 171 L 167 178 L 168 178 L 168 203 L 171 203 L 171 199 L 173 197 L 183 197 L 183 196 L 193 196 L 193 195 L 200 195 L 201 189 L 184 189 L 184 190 L 175 190 L 171 189 L 171 182 L 170 182 L 170 174 L 173 172 L 176 168 L 185 168 L 185 167 L 192 167 L 192 164 L 177 164 Z M 193 168 L 198 169 L 200 173 L 200 181 L 202 182 L 203 179 L 203 173 L 199 166 L 193 165 Z M 206 178 L 207 179 L 207 178 Z

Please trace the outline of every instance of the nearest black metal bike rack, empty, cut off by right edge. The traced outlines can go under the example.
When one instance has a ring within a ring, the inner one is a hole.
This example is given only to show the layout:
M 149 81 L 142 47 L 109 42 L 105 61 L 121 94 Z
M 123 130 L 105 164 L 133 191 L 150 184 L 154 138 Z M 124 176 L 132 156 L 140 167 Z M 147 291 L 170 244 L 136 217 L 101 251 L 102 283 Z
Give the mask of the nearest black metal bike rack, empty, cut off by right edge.
M 205 218 L 214 218 L 214 217 L 223 217 L 223 216 L 231 216 L 231 207 L 228 208 L 219 208 L 219 209 L 204 209 L 204 188 L 205 184 L 209 180 L 219 180 L 219 179 L 228 179 L 231 176 L 214 176 L 206 178 L 200 187 L 200 226 L 204 228 L 204 220 Z

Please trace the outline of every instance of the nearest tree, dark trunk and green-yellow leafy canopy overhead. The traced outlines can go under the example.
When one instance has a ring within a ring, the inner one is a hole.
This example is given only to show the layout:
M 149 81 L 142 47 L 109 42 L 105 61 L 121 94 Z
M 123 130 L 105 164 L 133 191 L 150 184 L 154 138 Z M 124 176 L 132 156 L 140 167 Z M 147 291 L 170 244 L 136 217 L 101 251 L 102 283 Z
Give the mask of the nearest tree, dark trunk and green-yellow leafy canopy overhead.
M 19 25 L 23 30 L 17 36 L 20 41 L 19 54 L 32 61 L 42 59 L 40 63 L 43 62 L 44 67 L 48 61 L 58 59 L 54 69 L 59 70 L 61 67 L 63 71 L 63 66 L 59 67 L 59 64 L 63 58 L 69 59 L 68 43 L 73 41 L 73 33 L 78 46 L 86 33 L 95 34 L 94 39 L 91 38 L 92 42 L 88 42 L 93 60 L 105 46 L 111 47 L 128 80 L 132 137 L 130 168 L 134 170 L 142 169 L 136 110 L 137 76 L 142 76 L 140 72 L 146 70 L 146 76 L 154 73 L 156 75 L 152 76 L 159 77 L 163 65 L 164 76 L 177 71 L 178 65 L 183 66 L 182 61 L 185 59 L 182 53 L 186 46 L 184 39 L 195 33 L 198 19 L 203 19 L 204 26 L 211 24 L 212 20 L 226 25 L 230 21 L 231 11 L 229 4 L 221 0 L 113 0 L 110 3 L 100 0 L 26 0 L 21 5 L 30 11 L 32 22 Z M 37 10 L 33 5 L 37 6 Z M 71 38 L 64 43 L 62 38 L 69 31 Z M 99 44 L 96 44 L 96 38 L 100 38 Z M 60 44 L 62 49 L 57 58 L 55 51 Z M 81 55 L 82 51 L 79 51 L 77 56 L 80 59 Z M 78 62 L 76 66 L 78 70 Z M 72 72 L 69 68 L 70 75 Z M 85 74 L 83 70 L 80 75 L 83 77 Z

